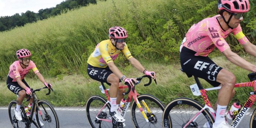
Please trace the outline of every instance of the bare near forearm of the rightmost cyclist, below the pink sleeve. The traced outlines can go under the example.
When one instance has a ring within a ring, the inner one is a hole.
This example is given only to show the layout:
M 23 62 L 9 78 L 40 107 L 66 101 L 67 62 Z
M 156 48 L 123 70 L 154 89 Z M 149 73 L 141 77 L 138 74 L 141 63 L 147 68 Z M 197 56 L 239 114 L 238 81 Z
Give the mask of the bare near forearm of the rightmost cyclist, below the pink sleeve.
M 230 48 L 224 50 L 222 52 L 225 57 L 231 61 L 232 63 L 234 63 L 235 65 L 243 68 L 243 69 L 246 69 L 248 71 L 251 71 L 251 72 L 256 72 L 256 66 L 247 62 L 245 59 L 243 59 L 242 57 L 238 56 L 238 54 L 234 53 L 231 51 Z

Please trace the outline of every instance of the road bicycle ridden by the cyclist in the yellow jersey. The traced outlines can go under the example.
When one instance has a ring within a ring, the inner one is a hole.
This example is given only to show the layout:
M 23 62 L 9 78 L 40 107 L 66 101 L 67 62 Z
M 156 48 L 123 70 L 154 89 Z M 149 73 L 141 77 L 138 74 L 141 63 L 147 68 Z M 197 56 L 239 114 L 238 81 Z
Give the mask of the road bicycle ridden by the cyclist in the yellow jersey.
M 154 74 L 153 74 L 154 75 Z M 152 82 L 152 78 L 150 76 L 144 75 L 139 78 L 135 78 L 137 83 L 140 83 L 142 78 L 149 78 L 149 83 L 144 84 L 144 86 L 149 86 Z M 156 82 L 156 80 L 155 80 Z M 100 90 L 103 94 L 106 94 L 107 99 L 94 95 L 90 97 L 86 103 L 86 116 L 88 118 L 89 124 L 92 128 L 122 128 L 123 123 L 115 121 L 110 115 L 110 97 L 108 90 L 104 86 L 103 83 L 100 85 Z M 128 91 L 123 93 L 123 95 L 129 94 L 126 102 L 124 104 L 124 108 L 121 110 L 121 116 L 125 117 L 128 112 L 129 105 L 131 105 L 131 119 L 135 128 L 142 127 L 154 127 L 160 128 L 162 127 L 161 116 L 163 114 L 163 110 L 165 105 L 156 97 L 149 94 L 139 95 L 135 86 L 126 85 L 120 86 L 120 89 L 128 88 Z M 157 83 L 156 83 L 157 84 Z M 141 106 L 141 103 L 143 106 Z M 170 122 L 170 120 L 168 120 Z

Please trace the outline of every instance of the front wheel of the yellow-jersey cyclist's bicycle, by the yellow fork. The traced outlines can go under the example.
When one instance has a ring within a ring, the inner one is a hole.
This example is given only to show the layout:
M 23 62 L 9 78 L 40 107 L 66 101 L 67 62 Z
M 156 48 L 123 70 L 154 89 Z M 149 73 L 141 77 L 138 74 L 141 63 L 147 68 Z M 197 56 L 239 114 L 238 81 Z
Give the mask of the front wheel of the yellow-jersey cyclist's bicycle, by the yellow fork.
M 131 106 L 131 118 L 132 118 L 132 123 L 133 123 L 134 127 L 135 128 L 142 128 L 142 127 L 160 128 L 160 127 L 162 127 L 163 123 L 161 122 L 161 118 L 162 118 L 162 114 L 163 114 L 165 105 L 159 99 L 154 97 L 153 95 L 143 94 L 143 95 L 139 95 L 137 98 L 138 98 L 138 101 L 140 102 L 145 114 L 147 115 L 147 119 L 149 120 L 149 122 L 146 122 L 145 118 L 142 116 L 141 112 L 136 107 L 137 106 L 136 102 L 133 101 L 132 106 Z M 142 100 L 145 101 L 145 103 L 147 104 L 147 106 L 149 107 L 149 109 L 152 113 L 147 113 L 147 109 L 143 106 L 143 104 L 141 102 Z M 136 111 L 139 111 L 139 112 L 136 112 Z M 169 121 L 169 123 L 171 122 L 170 118 L 168 118 L 168 121 Z

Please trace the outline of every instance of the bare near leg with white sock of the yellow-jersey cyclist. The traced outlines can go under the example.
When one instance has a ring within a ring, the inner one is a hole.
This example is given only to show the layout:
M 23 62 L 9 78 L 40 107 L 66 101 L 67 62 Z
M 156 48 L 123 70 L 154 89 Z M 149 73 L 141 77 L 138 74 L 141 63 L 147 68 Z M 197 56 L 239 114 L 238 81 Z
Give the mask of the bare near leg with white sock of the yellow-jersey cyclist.
M 119 87 L 119 78 L 115 76 L 114 74 L 110 74 L 109 77 L 107 77 L 107 82 L 110 83 L 109 93 L 110 93 L 110 104 L 111 109 L 110 112 L 113 112 L 118 109 L 117 106 L 117 91 Z

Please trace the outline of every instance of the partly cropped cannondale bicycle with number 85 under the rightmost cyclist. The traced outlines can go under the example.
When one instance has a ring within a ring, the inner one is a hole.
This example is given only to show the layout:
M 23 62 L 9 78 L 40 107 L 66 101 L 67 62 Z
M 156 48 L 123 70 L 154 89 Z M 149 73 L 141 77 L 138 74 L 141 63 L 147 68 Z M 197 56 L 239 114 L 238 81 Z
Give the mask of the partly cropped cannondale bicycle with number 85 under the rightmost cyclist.
M 187 76 L 192 77 L 192 75 L 189 74 L 187 74 Z M 256 100 L 256 74 L 248 74 L 248 77 L 250 82 L 235 84 L 235 87 L 253 87 L 253 91 L 249 92 L 250 97 L 241 107 L 237 116 L 233 119 L 231 123 L 232 128 L 238 127 L 239 123 L 241 123 L 243 117 L 245 117 L 246 113 Z M 174 99 L 166 106 L 166 109 L 164 109 L 162 118 L 164 128 L 212 128 L 216 116 L 206 93 L 207 91 L 218 90 L 221 86 L 204 89 L 198 77 L 194 76 L 194 78 L 196 80 L 196 84 L 190 86 L 191 91 L 193 95 L 201 95 L 205 105 L 203 106 L 199 102 L 190 98 Z M 171 116 L 171 124 L 168 124 L 169 122 L 166 121 L 169 116 Z M 256 109 L 250 117 L 249 126 L 250 128 L 256 128 Z

